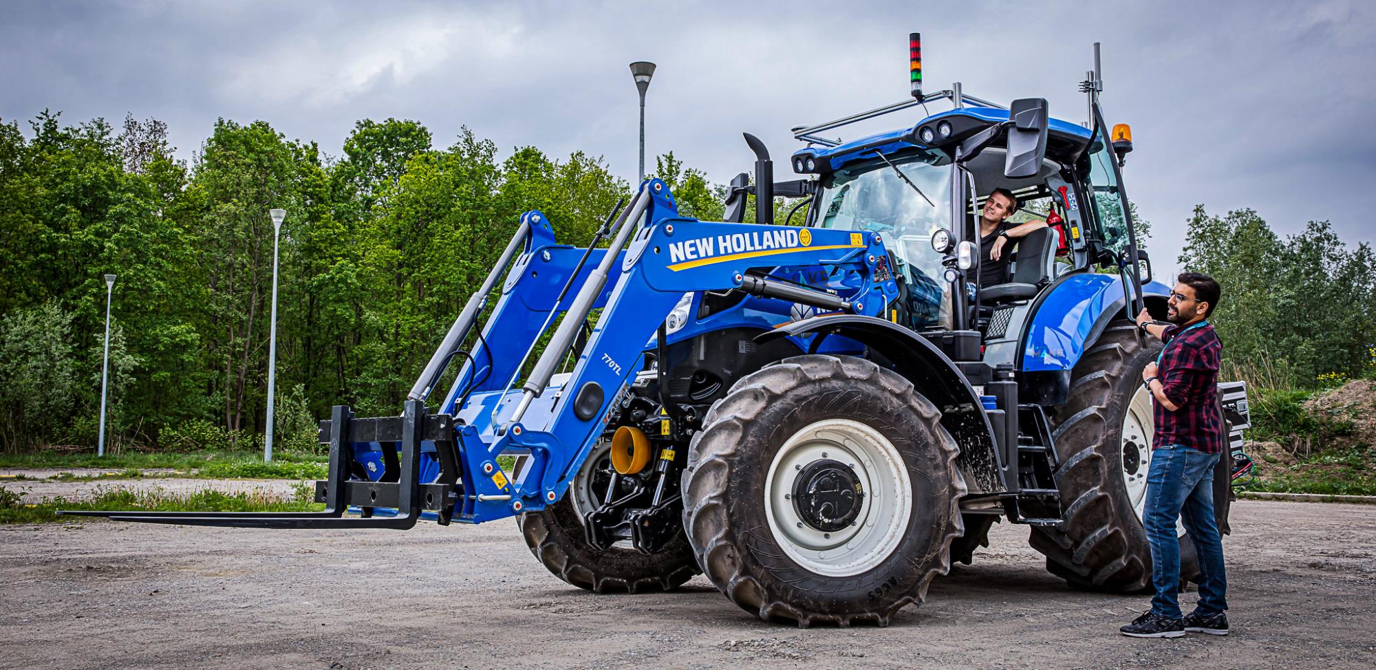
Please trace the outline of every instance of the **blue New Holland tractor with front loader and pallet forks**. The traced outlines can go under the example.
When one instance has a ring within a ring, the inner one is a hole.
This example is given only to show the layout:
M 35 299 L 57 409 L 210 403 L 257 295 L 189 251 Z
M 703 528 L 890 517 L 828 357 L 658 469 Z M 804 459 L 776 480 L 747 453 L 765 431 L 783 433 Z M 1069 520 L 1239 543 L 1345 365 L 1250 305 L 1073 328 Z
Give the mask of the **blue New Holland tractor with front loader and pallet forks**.
M 754 183 L 732 182 L 724 221 L 680 216 L 659 179 L 583 248 L 541 212 L 522 216 L 400 415 L 336 406 L 321 422 L 323 512 L 98 515 L 260 528 L 515 517 L 578 587 L 659 592 L 706 574 L 743 609 L 799 626 L 888 625 L 1000 519 L 1029 526 L 1075 586 L 1145 589 L 1139 381 L 1160 343 L 1131 316 L 1164 318 L 1170 289 L 1137 248 L 1127 132 L 1104 122 L 1097 69 L 1082 127 L 1044 99 L 923 94 L 919 55 L 914 36 L 912 99 L 795 129 L 801 179 L 775 183 L 747 135 Z M 938 100 L 952 109 L 892 132 L 819 135 Z M 1051 226 L 1018 242 L 1011 282 L 981 290 L 974 212 L 996 187 Z M 805 198 L 806 215 L 773 221 L 777 195 Z M 1215 482 L 1226 523 L 1226 462 Z M 1181 546 L 1189 576 L 1183 531 Z

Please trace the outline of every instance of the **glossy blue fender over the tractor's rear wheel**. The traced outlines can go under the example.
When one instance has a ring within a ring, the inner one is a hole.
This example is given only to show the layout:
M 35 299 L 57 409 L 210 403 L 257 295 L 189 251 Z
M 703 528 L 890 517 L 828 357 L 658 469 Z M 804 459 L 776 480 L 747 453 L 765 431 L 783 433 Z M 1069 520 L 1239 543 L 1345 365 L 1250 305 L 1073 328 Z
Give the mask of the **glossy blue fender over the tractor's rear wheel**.
M 1170 290 L 1156 281 L 1142 285 L 1142 297 L 1154 316 L 1165 316 Z M 1038 297 L 1022 330 L 1018 398 L 1038 404 L 1065 402 L 1075 363 L 1109 322 L 1134 316 L 1126 307 L 1123 281 L 1117 275 L 1077 272 L 1051 285 Z

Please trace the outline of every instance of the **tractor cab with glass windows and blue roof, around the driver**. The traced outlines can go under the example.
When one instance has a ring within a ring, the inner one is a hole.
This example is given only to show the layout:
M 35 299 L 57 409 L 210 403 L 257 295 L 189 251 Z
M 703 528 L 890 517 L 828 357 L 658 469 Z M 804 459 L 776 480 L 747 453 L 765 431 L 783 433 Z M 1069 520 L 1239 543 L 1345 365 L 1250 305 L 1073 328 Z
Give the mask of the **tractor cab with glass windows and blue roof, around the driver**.
M 952 94 L 925 102 L 941 96 Z M 816 175 L 808 226 L 883 238 L 903 281 L 893 321 L 919 332 L 977 330 L 989 344 L 1060 277 L 1124 264 L 1131 235 L 1117 147 L 1102 122 L 1050 118 L 1040 99 L 977 105 L 958 102 L 911 128 L 831 146 L 813 129 L 795 131 L 813 146 L 791 164 Z M 1007 281 L 981 288 L 992 259 L 980 253 L 978 212 L 995 188 L 1017 197 L 1010 226 L 1049 226 L 1009 244 Z

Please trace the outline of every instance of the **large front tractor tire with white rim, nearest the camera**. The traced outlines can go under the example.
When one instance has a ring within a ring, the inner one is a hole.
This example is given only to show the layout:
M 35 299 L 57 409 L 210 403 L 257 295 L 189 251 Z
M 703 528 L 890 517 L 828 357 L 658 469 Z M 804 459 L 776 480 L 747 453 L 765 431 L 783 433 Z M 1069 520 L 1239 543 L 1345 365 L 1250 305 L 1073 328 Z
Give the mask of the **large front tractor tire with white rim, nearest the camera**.
M 765 620 L 886 626 L 949 571 L 965 480 L 940 413 L 849 356 L 794 356 L 707 413 L 684 527 L 709 579 Z

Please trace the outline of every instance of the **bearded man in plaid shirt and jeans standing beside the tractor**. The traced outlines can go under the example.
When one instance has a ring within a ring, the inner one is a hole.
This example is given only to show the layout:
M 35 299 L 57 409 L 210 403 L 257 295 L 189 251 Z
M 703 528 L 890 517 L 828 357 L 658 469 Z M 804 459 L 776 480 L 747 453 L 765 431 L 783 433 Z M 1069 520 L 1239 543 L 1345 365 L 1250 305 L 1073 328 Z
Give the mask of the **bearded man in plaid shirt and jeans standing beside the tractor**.
M 1156 363 L 1142 371 L 1152 393 L 1156 436 L 1146 475 L 1142 526 L 1152 545 L 1152 609 L 1120 630 L 1131 637 L 1181 637 L 1186 630 L 1226 636 L 1227 579 L 1223 542 L 1214 517 L 1214 465 L 1223 450 L 1223 420 L 1216 409 L 1222 344 L 1208 318 L 1218 305 L 1219 286 L 1208 275 L 1176 278 L 1167 321 L 1160 326 L 1142 310 L 1138 327 L 1165 343 Z M 1183 519 L 1200 560 L 1200 598 L 1181 616 L 1181 546 L 1176 517 Z

